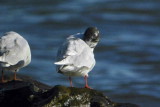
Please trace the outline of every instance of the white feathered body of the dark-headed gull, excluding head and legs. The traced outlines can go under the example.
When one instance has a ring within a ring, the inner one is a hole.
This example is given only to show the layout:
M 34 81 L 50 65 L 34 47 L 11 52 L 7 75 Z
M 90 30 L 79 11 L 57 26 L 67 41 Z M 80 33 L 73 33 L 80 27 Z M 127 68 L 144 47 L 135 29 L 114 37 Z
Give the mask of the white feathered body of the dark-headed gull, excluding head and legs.
M 57 71 L 67 76 L 88 76 L 95 65 L 93 49 L 81 38 L 69 36 L 57 53 Z

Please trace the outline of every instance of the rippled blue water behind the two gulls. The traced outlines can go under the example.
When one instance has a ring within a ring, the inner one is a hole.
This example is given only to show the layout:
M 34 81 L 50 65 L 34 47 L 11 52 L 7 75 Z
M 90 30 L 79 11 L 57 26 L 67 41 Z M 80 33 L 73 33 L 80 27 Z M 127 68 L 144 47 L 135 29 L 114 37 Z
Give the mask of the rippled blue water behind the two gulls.
M 56 51 L 68 35 L 97 26 L 101 40 L 89 85 L 117 102 L 159 107 L 159 5 L 159 0 L 1 0 L 0 34 L 13 30 L 30 44 L 32 62 L 19 73 L 69 86 L 55 71 Z M 84 86 L 83 77 L 73 82 Z

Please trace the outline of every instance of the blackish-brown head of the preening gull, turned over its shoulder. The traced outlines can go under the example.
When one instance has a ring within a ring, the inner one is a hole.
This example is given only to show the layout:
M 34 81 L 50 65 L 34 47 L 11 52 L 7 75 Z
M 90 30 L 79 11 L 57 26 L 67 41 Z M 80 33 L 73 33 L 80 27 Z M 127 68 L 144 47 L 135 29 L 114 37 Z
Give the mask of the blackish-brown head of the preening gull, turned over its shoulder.
M 90 48 L 95 48 L 99 42 L 99 30 L 96 27 L 87 28 L 83 39 Z

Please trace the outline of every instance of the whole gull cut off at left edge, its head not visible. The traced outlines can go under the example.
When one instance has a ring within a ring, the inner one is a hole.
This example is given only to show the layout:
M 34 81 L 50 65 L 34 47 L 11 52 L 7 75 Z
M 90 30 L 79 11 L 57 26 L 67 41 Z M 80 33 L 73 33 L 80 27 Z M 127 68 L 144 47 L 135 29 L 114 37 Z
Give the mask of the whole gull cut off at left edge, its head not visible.
M 0 37 L 0 70 L 2 72 L 2 83 L 4 71 L 16 72 L 31 62 L 31 51 L 27 40 L 18 33 L 10 31 Z

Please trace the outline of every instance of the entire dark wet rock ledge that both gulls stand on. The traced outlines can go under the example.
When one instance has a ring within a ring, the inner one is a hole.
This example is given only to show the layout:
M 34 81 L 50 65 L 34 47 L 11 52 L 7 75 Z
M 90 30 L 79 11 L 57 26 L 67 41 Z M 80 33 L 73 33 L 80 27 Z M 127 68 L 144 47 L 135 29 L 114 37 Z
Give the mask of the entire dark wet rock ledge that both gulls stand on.
M 9 81 L 0 84 L 1 107 L 139 107 L 129 103 L 115 103 L 99 91 L 54 86 L 51 88 L 35 80 Z

